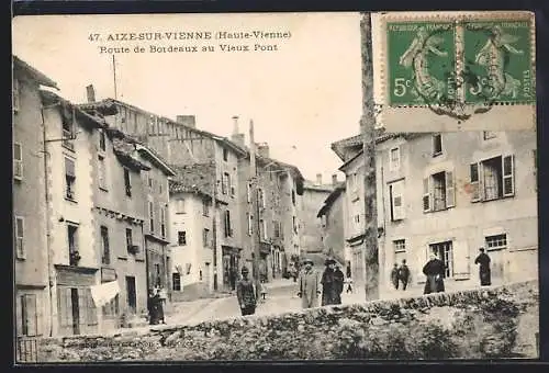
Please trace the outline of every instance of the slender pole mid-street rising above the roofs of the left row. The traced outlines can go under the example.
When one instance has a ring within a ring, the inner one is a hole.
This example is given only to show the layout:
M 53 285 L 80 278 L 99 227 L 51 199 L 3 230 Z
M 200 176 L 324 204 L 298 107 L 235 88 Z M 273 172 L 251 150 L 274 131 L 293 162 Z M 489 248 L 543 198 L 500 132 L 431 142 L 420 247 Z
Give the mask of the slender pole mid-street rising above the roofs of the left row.
M 256 280 L 256 297 L 259 298 L 259 289 L 261 283 L 261 276 L 259 274 L 259 245 L 260 245 L 260 224 L 259 224 L 259 193 L 257 189 L 257 167 L 256 167 L 256 143 L 254 140 L 254 121 L 249 121 L 249 163 L 250 163 L 250 176 L 249 181 L 251 184 L 251 211 L 256 215 L 256 231 L 253 233 L 253 248 L 254 248 L 254 280 Z M 254 225 L 253 225 L 254 226 Z

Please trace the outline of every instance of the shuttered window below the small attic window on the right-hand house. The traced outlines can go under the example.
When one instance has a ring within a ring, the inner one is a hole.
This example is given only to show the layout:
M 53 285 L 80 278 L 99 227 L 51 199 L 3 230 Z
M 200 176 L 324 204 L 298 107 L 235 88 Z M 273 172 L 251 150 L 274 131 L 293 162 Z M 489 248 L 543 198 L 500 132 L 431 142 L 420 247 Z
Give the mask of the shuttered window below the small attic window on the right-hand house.
M 423 180 L 423 211 L 435 212 L 456 205 L 453 172 L 442 171 Z

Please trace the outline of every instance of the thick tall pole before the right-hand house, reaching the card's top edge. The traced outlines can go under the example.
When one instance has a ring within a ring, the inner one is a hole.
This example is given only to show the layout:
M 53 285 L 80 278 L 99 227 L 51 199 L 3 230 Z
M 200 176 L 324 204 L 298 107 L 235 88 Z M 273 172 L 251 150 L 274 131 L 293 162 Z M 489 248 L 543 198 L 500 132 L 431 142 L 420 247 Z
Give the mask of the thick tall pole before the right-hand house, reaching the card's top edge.
M 376 116 L 373 102 L 372 25 L 370 13 L 362 15 L 360 26 L 362 41 L 362 117 L 360 118 L 360 133 L 362 136 L 365 157 L 365 290 L 366 299 L 370 301 L 379 298 L 378 208 L 376 203 Z

